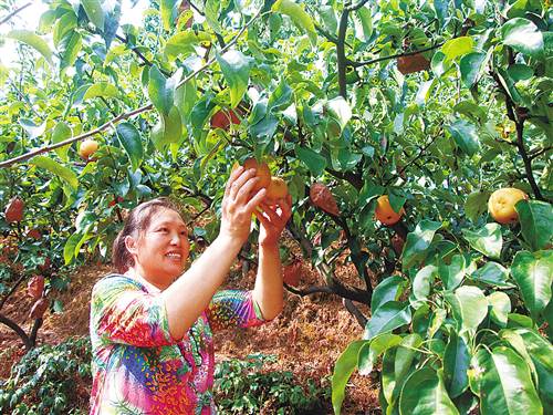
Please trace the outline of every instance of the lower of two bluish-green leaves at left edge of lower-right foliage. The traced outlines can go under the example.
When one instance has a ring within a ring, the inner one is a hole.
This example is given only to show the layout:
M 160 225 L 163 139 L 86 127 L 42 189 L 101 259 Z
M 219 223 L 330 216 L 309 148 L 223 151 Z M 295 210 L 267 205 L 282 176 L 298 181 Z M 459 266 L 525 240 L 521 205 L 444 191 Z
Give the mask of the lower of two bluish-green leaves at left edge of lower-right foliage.
M 377 310 L 373 310 L 373 315 L 365 325 L 363 339 L 371 340 L 376 335 L 400 328 L 411 321 L 411 311 L 408 303 L 388 301 Z

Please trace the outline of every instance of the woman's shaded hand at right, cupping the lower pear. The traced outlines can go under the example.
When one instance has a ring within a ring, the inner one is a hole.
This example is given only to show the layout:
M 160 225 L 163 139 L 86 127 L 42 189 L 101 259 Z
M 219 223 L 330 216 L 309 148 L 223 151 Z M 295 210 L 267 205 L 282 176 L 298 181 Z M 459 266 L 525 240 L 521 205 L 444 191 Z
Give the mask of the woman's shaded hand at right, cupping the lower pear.
M 254 211 L 261 225 L 259 229 L 259 245 L 276 246 L 288 219 L 292 216 L 292 197 L 288 195 L 285 199 L 279 199 L 274 206 L 262 201 L 259 208 L 260 210 Z

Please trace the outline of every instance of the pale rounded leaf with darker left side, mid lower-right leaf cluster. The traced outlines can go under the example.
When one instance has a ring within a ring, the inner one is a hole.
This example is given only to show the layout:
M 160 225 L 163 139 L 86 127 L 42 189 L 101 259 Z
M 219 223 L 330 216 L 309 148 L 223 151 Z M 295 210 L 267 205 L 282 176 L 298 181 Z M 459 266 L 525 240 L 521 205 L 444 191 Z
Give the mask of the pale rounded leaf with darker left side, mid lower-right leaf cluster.
M 488 314 L 488 299 L 478 287 L 459 287 L 455 293 L 446 293 L 446 300 L 451 304 L 453 317 L 460 330 L 477 330 Z

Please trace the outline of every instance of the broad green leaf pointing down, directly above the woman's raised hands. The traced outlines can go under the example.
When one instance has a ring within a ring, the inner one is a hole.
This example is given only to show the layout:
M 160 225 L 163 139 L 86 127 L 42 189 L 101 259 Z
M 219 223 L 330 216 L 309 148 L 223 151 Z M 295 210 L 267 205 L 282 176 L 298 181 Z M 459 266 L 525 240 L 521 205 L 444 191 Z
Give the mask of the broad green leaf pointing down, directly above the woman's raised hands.
M 217 62 L 219 62 L 225 80 L 229 84 L 230 106 L 234 108 L 248 90 L 250 61 L 242 52 L 231 50 L 222 56 L 217 54 Z

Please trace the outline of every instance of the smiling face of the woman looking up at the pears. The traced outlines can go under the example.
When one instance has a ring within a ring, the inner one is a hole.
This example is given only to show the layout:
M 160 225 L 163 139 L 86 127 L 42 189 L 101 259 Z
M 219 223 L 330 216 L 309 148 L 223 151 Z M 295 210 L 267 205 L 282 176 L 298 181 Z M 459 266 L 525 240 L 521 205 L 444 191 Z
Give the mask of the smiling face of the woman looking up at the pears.
M 185 221 L 167 208 L 153 215 L 148 228 L 140 231 L 137 240 L 127 237 L 126 245 L 136 271 L 161 289 L 182 273 L 190 250 Z

